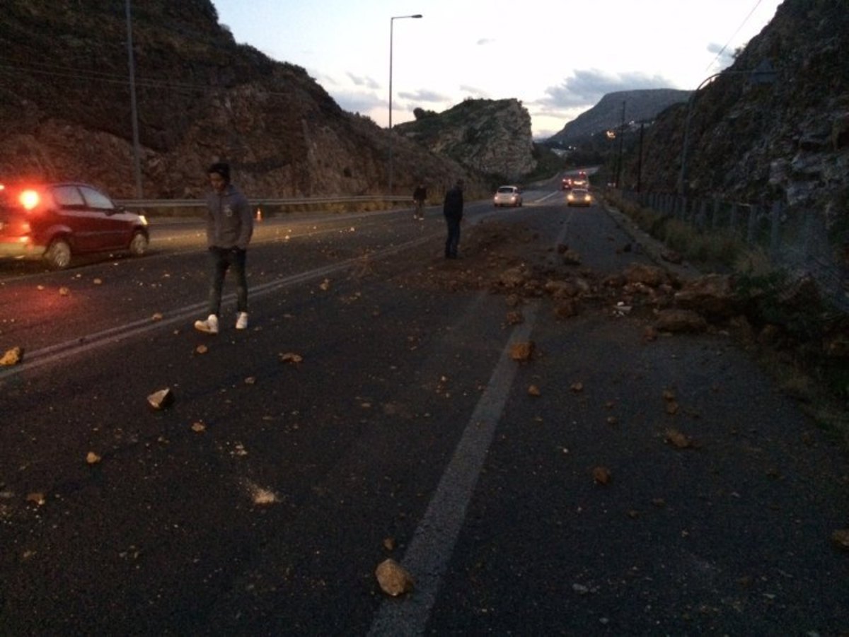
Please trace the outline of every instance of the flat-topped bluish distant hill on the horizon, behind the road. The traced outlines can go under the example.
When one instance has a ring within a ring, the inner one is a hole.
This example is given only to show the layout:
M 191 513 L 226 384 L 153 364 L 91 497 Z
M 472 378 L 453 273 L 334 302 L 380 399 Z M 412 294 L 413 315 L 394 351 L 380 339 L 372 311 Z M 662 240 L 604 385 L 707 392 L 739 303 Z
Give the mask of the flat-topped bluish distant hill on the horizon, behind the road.
M 673 88 L 649 88 L 639 91 L 607 93 L 592 109 L 578 115 L 562 131 L 542 142 L 553 148 L 565 148 L 586 140 L 601 131 L 615 129 L 622 123 L 622 103 L 625 104 L 625 123 L 651 121 L 672 104 L 686 102 L 690 91 Z

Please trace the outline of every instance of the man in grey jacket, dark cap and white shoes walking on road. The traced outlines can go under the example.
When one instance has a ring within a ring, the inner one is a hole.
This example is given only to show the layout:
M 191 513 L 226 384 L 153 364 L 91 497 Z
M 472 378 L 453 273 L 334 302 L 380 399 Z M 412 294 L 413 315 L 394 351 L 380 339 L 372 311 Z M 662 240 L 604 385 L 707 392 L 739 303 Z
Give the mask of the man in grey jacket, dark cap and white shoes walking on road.
M 194 328 L 208 334 L 218 333 L 221 292 L 224 276 L 233 268 L 236 277 L 236 329 L 248 327 L 248 281 L 245 257 L 254 220 L 245 195 L 230 183 L 230 166 L 217 162 L 206 171 L 211 191 L 206 195 L 206 247 L 210 254 L 209 316 L 194 321 Z

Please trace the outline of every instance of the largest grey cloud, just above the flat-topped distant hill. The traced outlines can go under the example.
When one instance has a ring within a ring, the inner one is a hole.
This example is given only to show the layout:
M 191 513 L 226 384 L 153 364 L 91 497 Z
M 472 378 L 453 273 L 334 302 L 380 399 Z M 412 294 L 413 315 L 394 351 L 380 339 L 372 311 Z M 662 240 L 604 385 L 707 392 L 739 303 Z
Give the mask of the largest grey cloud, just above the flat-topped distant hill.
M 674 82 L 661 75 L 646 75 L 638 71 L 607 73 L 598 69 L 576 70 L 558 86 L 546 88 L 545 97 L 538 103 L 556 110 L 590 108 L 607 93 L 672 86 Z

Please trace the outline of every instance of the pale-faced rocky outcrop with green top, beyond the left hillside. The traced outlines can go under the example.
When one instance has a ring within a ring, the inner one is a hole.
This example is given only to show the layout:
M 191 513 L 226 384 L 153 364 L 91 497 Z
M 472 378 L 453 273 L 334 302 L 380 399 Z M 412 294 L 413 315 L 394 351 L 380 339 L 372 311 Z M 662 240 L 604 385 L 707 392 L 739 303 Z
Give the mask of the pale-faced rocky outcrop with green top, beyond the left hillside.
M 439 114 L 415 115 L 396 131 L 436 154 L 507 181 L 537 167 L 531 115 L 518 99 L 467 99 Z

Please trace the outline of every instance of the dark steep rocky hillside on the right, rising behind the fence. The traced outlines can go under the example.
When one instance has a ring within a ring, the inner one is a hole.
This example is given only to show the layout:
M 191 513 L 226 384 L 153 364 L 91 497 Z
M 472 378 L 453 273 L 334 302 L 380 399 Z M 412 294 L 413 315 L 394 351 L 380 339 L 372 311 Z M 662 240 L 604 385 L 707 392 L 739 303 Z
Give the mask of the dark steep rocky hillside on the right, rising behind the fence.
M 772 68 L 774 75 L 752 74 Z M 675 192 L 687 105 L 645 130 L 626 182 Z M 849 242 L 849 10 L 846 0 L 784 0 L 734 65 L 692 100 L 687 190 L 823 215 Z M 842 238 L 841 238 L 842 237 Z

